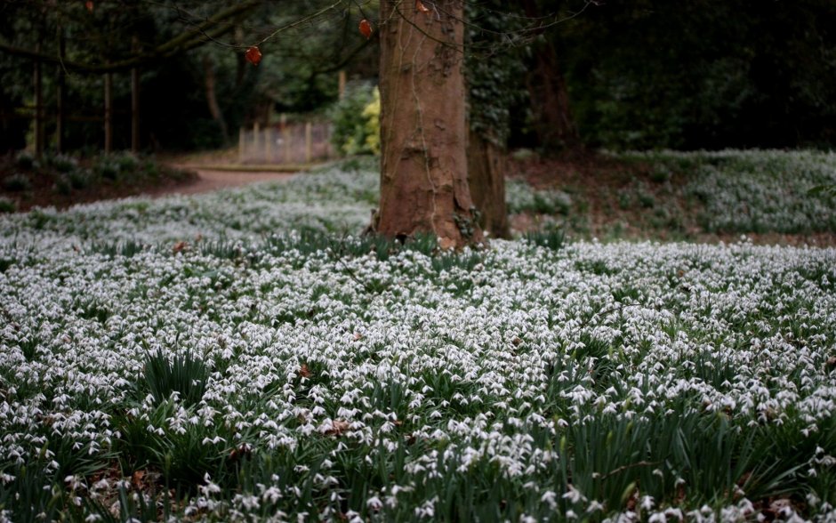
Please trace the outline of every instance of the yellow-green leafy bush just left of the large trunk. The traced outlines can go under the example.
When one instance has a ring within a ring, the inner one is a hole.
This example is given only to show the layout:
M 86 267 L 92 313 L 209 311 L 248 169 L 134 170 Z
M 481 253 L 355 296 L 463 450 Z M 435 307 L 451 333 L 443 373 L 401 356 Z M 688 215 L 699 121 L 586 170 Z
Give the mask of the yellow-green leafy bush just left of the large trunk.
M 331 110 L 334 147 L 347 155 L 380 154 L 381 95 L 370 84 L 357 85 L 346 91 Z

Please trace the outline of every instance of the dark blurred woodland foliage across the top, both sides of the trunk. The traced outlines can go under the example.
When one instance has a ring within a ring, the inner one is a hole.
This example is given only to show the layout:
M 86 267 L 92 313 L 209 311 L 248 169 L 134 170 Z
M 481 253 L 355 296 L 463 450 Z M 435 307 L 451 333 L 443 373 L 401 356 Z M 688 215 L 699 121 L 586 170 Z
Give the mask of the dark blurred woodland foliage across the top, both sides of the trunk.
M 143 63 L 142 148 L 213 149 L 235 141 L 238 127 L 269 125 L 281 113 L 339 115 L 340 70 L 350 84 L 376 81 L 376 37 L 366 41 L 357 23 L 368 18 L 376 29 L 378 20 L 377 5 L 367 1 L 307 19 L 333 4 L 253 2 L 222 20 L 229 27 L 206 44 Z M 63 32 L 67 60 L 118 61 L 136 52 L 133 36 L 149 52 L 228 7 L 220 0 L 103 0 L 92 10 L 84 2 L 0 2 L 0 149 L 31 141 L 30 120 L 13 116 L 34 105 L 34 62 L 10 48 L 40 44 L 40 52 L 57 56 Z M 832 0 L 472 0 L 468 9 L 470 123 L 494 141 L 545 152 L 836 143 Z M 246 63 L 245 47 L 279 28 L 260 45 L 261 64 Z M 59 68 L 43 65 L 47 108 L 54 108 Z M 114 147 L 121 149 L 130 145 L 130 74 L 113 77 Z M 543 85 L 565 90 L 552 109 L 566 132 L 546 132 L 557 124 L 537 95 Z M 67 99 L 80 116 L 68 122 L 68 149 L 100 149 L 103 75 L 68 68 Z M 362 111 L 356 116 L 344 124 L 365 127 Z

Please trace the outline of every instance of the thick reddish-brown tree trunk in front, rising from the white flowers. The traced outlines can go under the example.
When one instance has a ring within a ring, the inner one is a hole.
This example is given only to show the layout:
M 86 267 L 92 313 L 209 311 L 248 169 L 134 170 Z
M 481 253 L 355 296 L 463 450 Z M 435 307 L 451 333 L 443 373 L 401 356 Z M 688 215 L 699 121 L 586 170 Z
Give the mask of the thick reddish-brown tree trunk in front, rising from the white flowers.
M 432 233 L 442 248 L 482 239 L 467 179 L 461 0 L 430 13 L 381 2 L 381 208 L 387 237 Z

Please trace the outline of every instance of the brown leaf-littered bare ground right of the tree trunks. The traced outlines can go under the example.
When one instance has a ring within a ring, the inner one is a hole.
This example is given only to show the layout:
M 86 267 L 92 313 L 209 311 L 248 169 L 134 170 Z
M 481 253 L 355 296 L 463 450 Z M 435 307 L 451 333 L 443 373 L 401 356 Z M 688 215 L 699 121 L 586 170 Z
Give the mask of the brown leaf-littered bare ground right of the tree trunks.
M 567 230 L 570 236 L 601 240 L 713 244 L 734 243 L 745 236 L 755 245 L 836 245 L 836 233 L 832 231 L 708 231 L 700 223 L 702 204 L 683 190 L 694 176 L 695 173 L 671 170 L 669 165 L 650 158 L 636 160 L 603 154 L 517 157 L 510 161 L 508 169 L 507 179 L 511 183 L 525 181 L 543 195 L 565 197 L 567 204 L 552 209 L 550 197 L 544 197 L 541 203 L 545 201 L 545 207 L 534 205 L 534 212 L 515 213 L 515 209 L 510 209 L 511 229 L 548 227 L 551 215 L 552 223 Z M 545 212 L 537 213 L 538 207 Z

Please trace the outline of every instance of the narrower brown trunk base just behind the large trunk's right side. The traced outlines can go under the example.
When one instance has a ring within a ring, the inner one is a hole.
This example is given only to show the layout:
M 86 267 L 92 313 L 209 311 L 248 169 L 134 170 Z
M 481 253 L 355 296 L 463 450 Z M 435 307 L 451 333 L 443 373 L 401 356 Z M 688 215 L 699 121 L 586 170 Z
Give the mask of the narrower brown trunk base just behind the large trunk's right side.
M 494 237 L 510 237 L 505 207 L 505 170 L 508 157 L 493 141 L 470 131 L 467 146 L 468 182 L 479 225 Z

